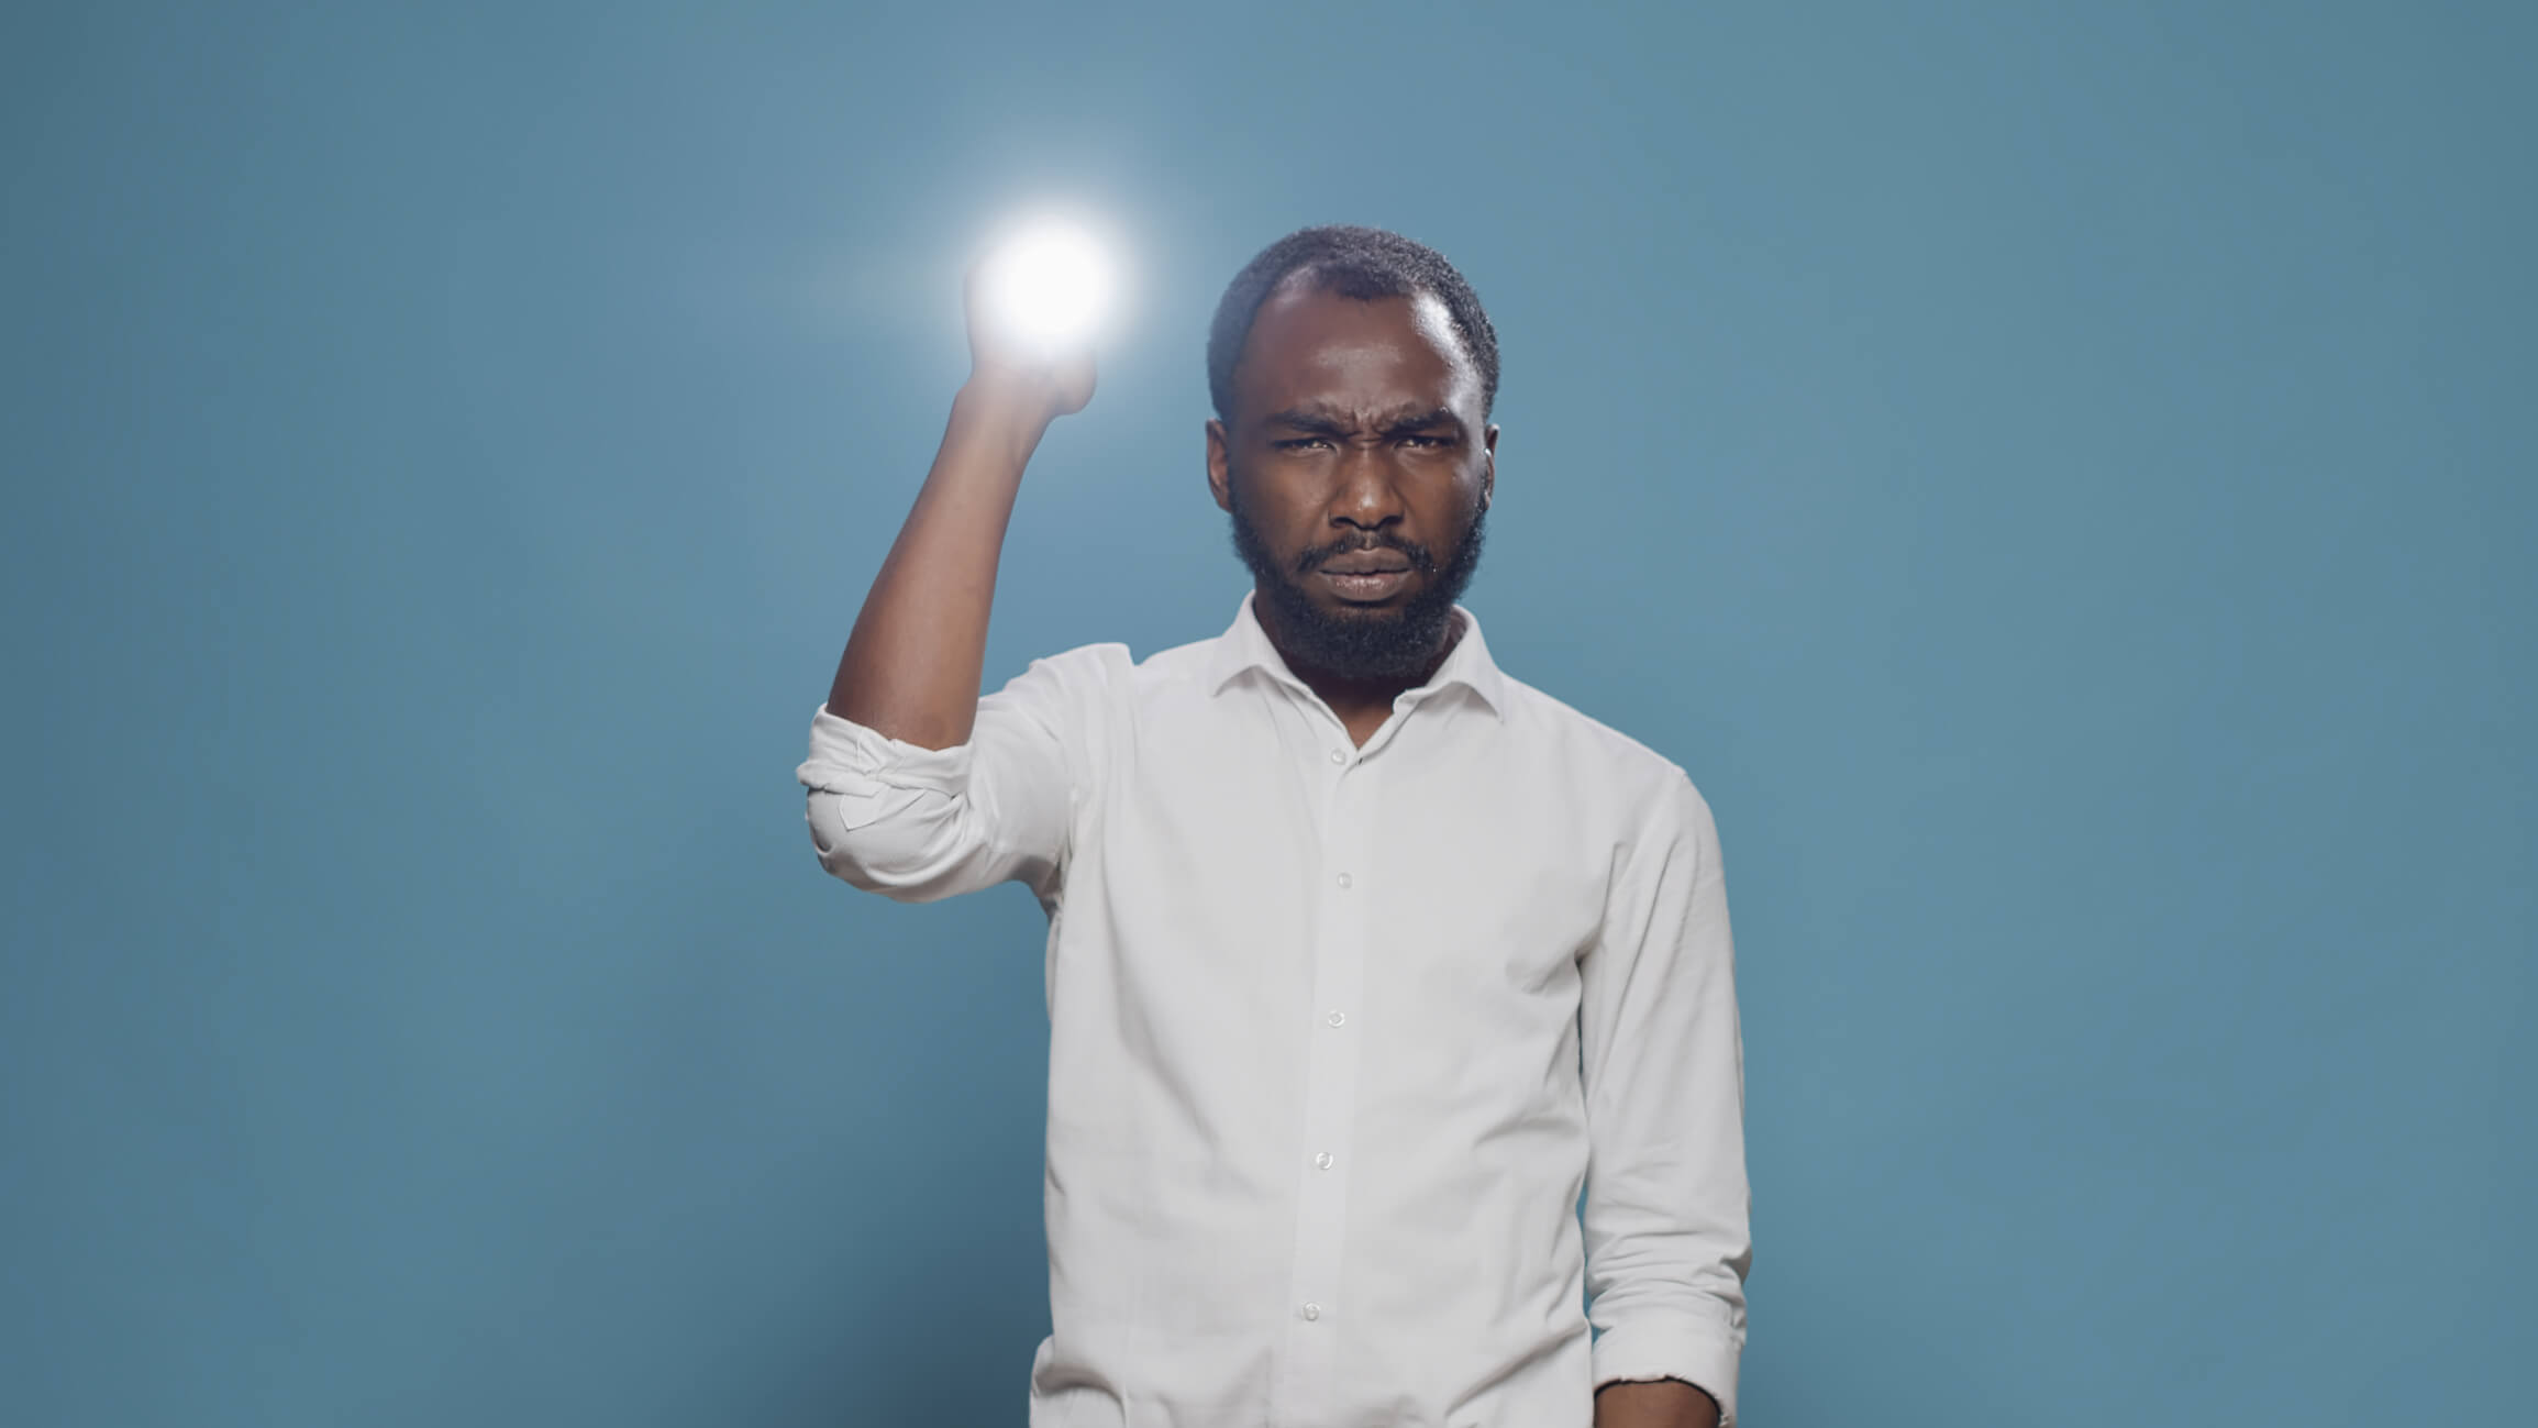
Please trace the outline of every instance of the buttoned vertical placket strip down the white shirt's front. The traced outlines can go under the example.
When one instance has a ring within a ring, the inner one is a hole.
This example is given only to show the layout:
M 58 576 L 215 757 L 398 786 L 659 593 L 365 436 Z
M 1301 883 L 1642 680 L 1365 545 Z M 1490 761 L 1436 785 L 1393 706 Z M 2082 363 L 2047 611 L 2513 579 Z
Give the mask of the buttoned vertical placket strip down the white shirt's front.
M 1305 1027 L 1305 1121 L 1297 1162 L 1294 1250 L 1287 1281 L 1287 1337 L 1272 1398 L 1272 1423 L 1327 1423 L 1335 1410 L 1335 1347 L 1345 1334 L 1343 1256 L 1348 1248 L 1348 1146 L 1358 1098 L 1358 992 L 1365 982 L 1365 829 L 1376 807 L 1373 771 L 1340 728 L 1330 741 L 1312 921 L 1312 1022 Z

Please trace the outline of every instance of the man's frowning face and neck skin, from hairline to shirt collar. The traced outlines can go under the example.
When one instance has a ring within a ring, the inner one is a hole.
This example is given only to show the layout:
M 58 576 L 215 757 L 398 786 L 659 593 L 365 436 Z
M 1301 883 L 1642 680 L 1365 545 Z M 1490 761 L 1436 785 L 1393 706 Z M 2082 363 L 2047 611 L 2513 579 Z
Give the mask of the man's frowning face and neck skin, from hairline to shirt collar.
M 1208 492 L 1233 520 L 1261 629 L 1355 743 L 1454 649 L 1495 479 L 1497 426 L 1444 302 L 1358 302 L 1305 279 L 1261 302 L 1233 416 L 1208 421 Z M 1381 601 L 1320 576 L 1365 550 L 1411 566 Z

